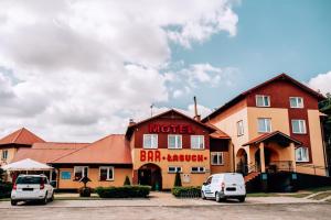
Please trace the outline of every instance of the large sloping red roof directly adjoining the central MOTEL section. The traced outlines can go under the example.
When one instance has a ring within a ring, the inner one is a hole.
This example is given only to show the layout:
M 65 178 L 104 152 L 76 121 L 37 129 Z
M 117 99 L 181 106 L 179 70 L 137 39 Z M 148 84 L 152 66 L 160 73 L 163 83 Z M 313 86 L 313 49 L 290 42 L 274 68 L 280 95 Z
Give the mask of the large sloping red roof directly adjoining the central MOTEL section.
M 110 134 L 54 160 L 52 164 L 132 164 L 132 160 L 125 135 Z

